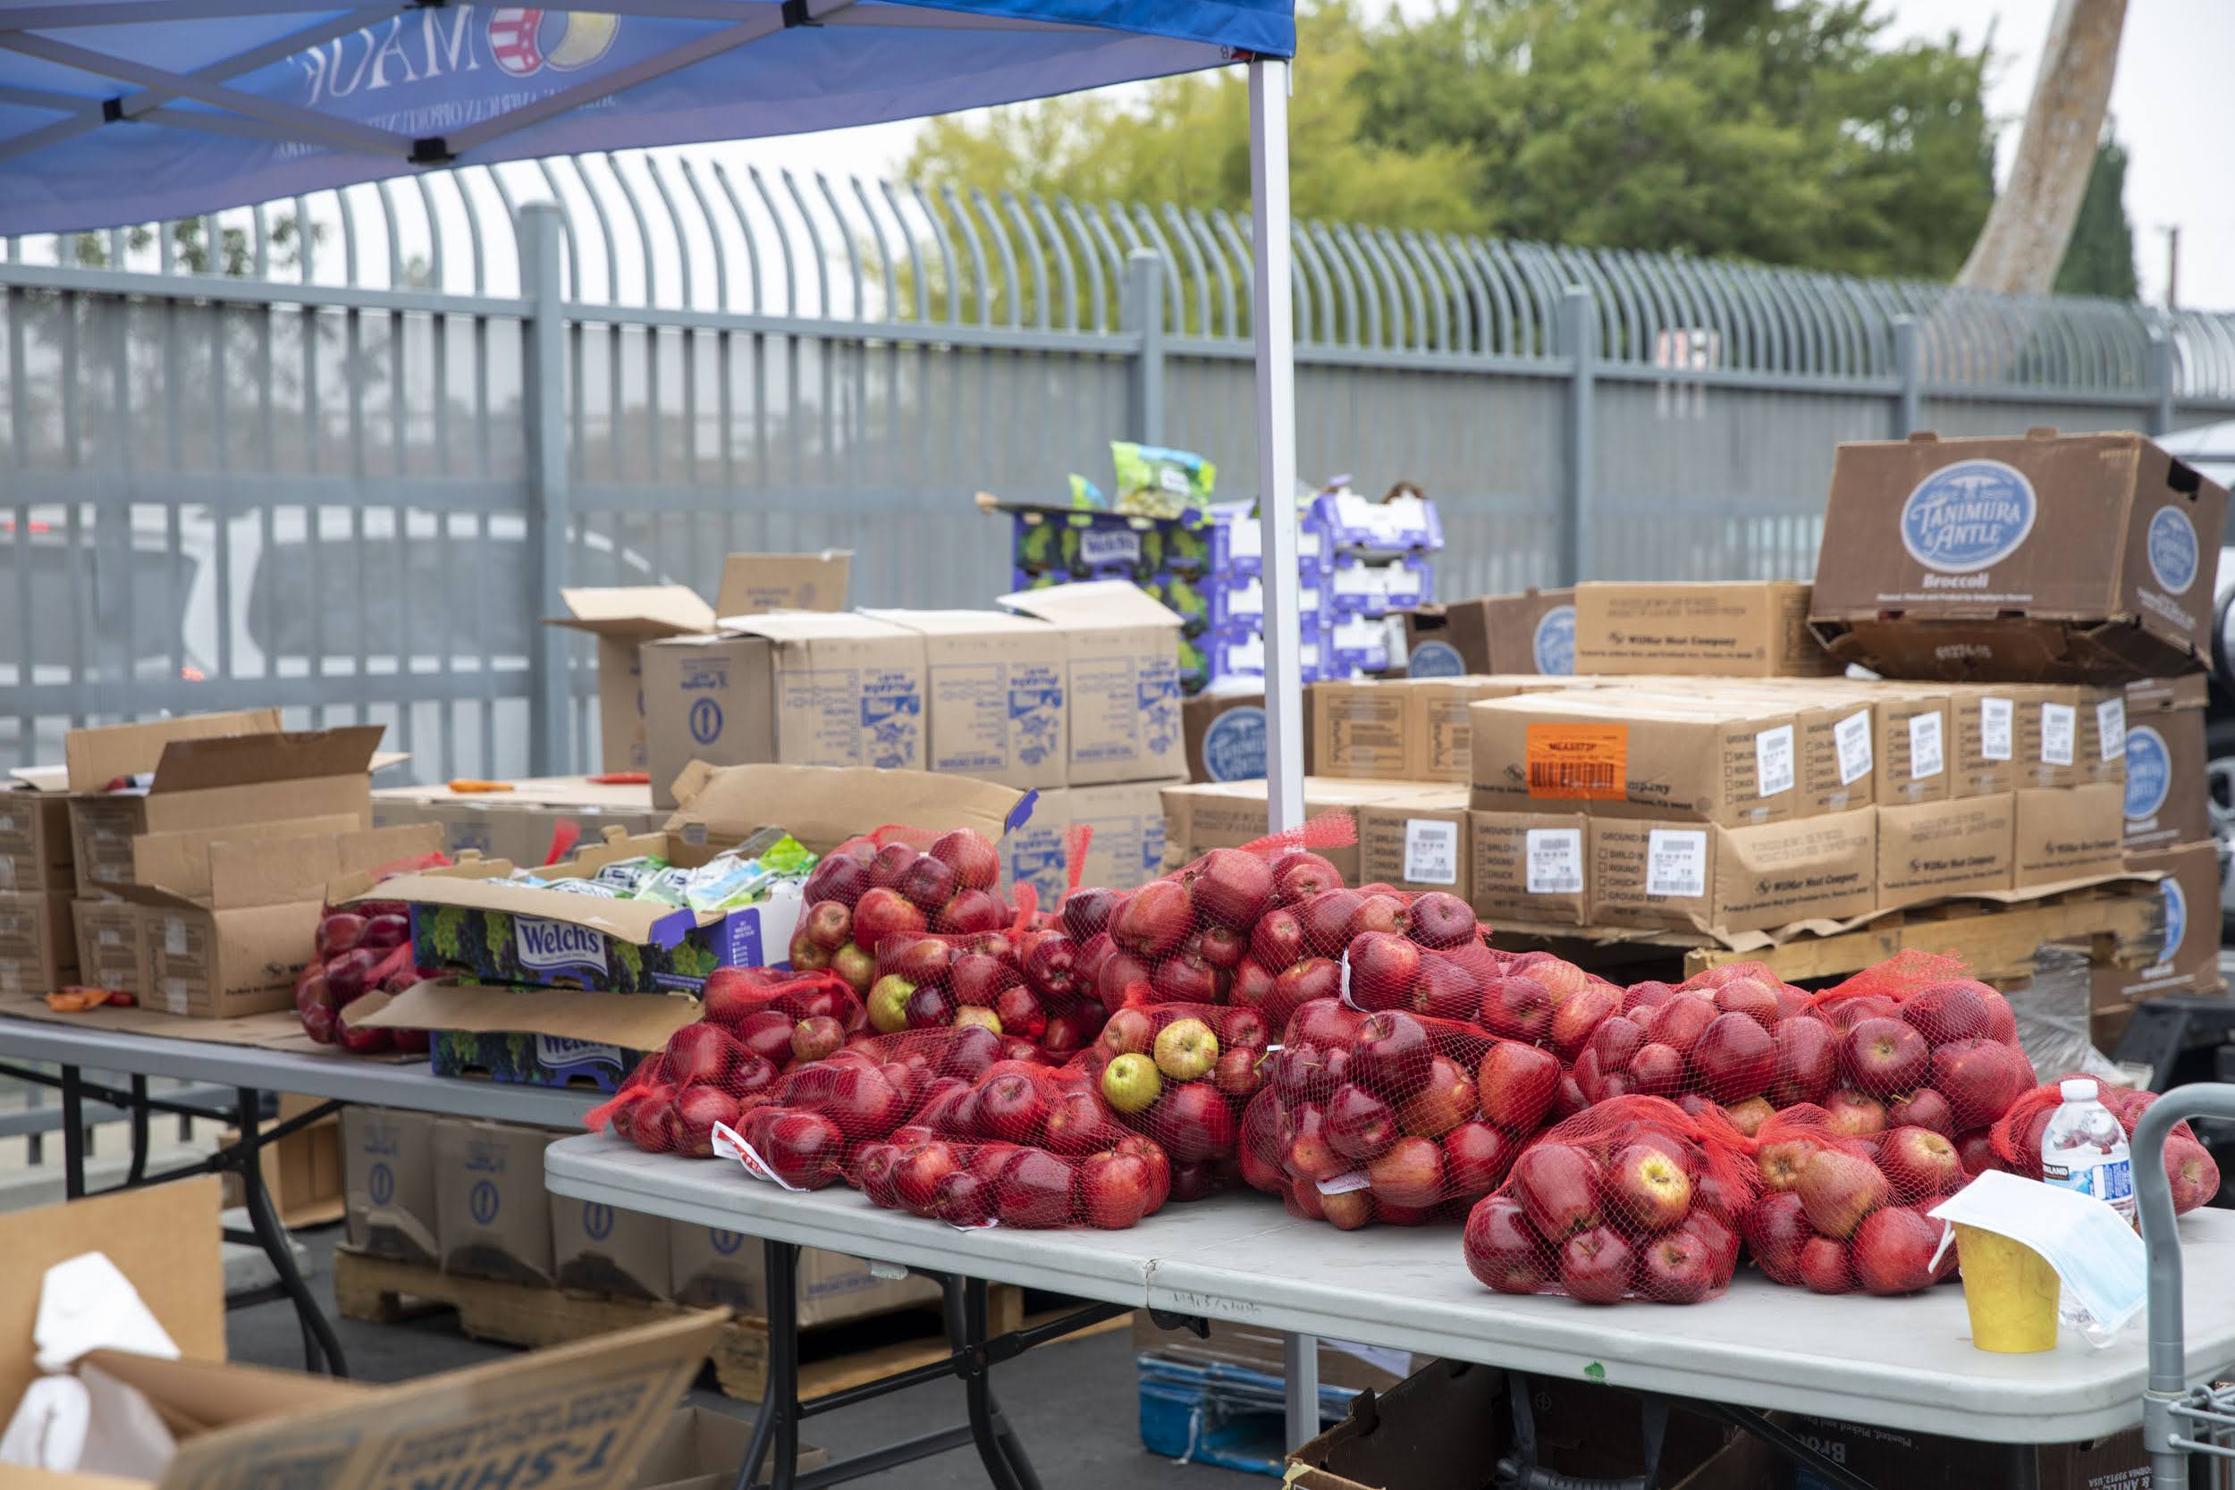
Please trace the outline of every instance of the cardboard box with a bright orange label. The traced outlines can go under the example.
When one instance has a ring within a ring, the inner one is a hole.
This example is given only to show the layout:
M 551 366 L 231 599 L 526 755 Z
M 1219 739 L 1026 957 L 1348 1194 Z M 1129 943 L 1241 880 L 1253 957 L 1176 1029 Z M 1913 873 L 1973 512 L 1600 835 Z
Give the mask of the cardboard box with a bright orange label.
M 1471 704 L 1473 806 L 1781 822 L 1799 802 L 1799 726 L 1761 697 L 1627 690 Z

